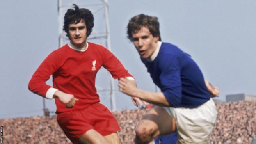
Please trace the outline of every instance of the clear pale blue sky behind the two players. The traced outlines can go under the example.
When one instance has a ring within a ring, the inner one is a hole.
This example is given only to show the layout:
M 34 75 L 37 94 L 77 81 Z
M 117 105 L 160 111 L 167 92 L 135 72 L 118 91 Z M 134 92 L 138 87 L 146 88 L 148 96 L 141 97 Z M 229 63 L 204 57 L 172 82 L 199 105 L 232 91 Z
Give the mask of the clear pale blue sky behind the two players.
M 79 2 L 63 0 L 65 5 Z M 109 0 L 112 53 L 139 88 L 155 91 L 139 54 L 126 38 L 129 19 L 142 13 L 158 17 L 162 41 L 192 55 L 204 78 L 219 87 L 220 96 L 215 99 L 225 101 L 227 94 L 256 95 L 255 0 Z M 102 30 L 103 18 L 99 13 L 94 17 L 94 31 Z M 0 0 L 0 20 L 0 119 L 43 115 L 43 98 L 30 92 L 27 84 L 43 59 L 59 47 L 57 0 Z M 105 70 L 98 73 L 98 88 L 109 88 L 106 75 Z M 47 83 L 52 84 L 51 80 Z M 114 86 L 117 110 L 135 109 L 130 97 L 117 91 L 117 80 Z M 99 94 L 101 103 L 110 108 L 109 94 Z M 54 112 L 54 101 L 46 100 L 46 108 Z

